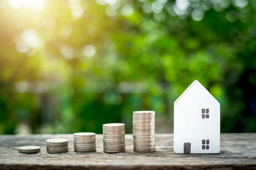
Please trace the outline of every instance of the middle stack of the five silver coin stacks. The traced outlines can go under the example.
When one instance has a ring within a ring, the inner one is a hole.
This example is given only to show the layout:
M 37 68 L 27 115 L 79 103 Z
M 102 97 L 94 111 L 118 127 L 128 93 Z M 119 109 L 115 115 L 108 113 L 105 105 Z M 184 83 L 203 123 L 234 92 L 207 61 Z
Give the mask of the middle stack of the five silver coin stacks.
M 80 132 L 74 133 L 74 150 L 75 152 L 95 152 L 95 133 Z

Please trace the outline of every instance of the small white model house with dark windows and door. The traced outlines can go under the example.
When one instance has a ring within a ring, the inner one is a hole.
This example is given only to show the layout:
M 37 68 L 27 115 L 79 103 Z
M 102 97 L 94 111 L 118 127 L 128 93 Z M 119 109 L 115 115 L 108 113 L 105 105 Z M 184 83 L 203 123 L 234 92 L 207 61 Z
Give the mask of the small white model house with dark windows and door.
M 197 80 L 174 103 L 175 153 L 220 153 L 220 103 Z

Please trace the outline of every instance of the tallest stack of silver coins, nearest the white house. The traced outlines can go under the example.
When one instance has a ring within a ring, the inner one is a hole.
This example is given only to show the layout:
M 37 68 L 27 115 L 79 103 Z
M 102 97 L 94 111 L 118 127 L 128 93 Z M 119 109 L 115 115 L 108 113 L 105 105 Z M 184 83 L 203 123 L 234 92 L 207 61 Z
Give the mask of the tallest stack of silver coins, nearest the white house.
M 155 111 L 134 111 L 132 134 L 134 152 L 156 152 Z

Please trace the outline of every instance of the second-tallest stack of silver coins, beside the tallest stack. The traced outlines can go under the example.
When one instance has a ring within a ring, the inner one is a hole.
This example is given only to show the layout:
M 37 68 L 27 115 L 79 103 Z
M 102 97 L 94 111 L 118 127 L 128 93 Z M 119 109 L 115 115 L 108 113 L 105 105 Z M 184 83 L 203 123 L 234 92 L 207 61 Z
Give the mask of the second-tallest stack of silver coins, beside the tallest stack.
M 106 153 L 125 152 L 125 124 L 103 125 L 103 151 Z

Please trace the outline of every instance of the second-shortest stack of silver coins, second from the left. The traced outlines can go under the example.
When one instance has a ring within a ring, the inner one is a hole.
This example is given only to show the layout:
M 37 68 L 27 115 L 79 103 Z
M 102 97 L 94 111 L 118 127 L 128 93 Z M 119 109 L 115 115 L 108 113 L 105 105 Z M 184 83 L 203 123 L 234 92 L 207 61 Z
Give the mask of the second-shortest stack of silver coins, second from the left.
M 46 150 L 48 153 L 68 152 L 68 139 L 48 139 L 46 140 Z

